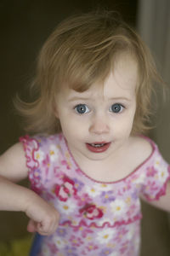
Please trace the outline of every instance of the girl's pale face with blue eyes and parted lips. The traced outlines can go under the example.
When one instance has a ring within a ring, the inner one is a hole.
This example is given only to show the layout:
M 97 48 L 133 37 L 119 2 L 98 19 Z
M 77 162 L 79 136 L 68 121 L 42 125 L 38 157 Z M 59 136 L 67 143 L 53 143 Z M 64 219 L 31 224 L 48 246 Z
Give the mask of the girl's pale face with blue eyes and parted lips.
M 121 55 L 104 83 L 84 92 L 68 87 L 57 96 L 56 117 L 78 160 L 111 158 L 125 146 L 133 128 L 138 83 L 136 61 Z

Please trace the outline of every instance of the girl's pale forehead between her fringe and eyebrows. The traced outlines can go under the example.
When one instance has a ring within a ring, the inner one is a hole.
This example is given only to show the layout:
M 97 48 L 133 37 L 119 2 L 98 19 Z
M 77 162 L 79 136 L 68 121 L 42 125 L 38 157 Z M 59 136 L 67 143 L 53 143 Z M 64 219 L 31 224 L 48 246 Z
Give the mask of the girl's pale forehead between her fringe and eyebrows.
M 69 99 L 73 97 L 95 99 L 101 96 L 102 98 L 131 98 L 135 96 L 138 80 L 137 61 L 129 54 L 122 54 L 116 57 L 113 68 L 104 81 L 96 81 L 88 90 L 83 92 L 77 92 L 66 86 L 62 94 L 68 96 Z

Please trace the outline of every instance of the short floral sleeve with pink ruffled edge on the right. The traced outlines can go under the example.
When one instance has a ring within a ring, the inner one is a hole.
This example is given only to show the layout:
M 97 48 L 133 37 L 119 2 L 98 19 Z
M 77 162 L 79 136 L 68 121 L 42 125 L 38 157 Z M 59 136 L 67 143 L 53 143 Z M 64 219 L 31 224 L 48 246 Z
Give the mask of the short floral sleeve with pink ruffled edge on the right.
M 154 145 L 154 154 L 144 172 L 142 195 L 147 201 L 159 200 L 161 195 L 166 194 L 167 182 L 170 179 L 170 166 L 161 156 L 156 144 Z

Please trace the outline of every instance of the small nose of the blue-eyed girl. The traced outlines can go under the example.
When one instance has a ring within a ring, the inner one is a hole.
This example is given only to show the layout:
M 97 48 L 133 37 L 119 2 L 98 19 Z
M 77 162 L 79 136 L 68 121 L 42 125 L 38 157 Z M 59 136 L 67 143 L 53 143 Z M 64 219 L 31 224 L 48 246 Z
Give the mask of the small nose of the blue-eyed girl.
M 110 131 L 108 119 L 105 117 L 93 117 L 89 131 L 97 135 L 108 133 Z

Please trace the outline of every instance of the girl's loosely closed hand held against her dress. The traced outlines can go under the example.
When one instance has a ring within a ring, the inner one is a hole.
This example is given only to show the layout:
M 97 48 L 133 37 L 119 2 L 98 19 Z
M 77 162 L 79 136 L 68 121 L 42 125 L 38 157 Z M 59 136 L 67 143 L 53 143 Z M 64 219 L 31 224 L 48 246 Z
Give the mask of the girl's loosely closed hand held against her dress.
M 42 236 L 50 236 L 58 227 L 59 212 L 34 192 L 32 193 L 25 211 L 26 215 L 31 218 L 27 230 L 38 232 Z

